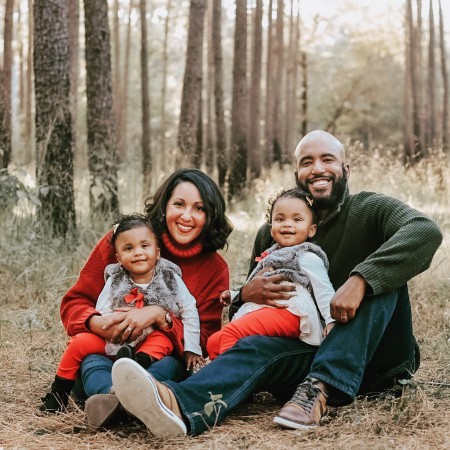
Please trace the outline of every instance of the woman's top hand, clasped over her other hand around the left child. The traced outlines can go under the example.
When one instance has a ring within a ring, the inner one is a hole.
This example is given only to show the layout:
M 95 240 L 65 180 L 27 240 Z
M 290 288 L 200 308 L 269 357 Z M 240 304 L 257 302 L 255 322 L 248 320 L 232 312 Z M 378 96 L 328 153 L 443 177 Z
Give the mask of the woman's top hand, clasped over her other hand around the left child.
M 128 311 L 125 311 L 128 309 Z M 144 328 L 157 328 L 165 322 L 166 310 L 158 305 L 144 306 L 144 308 L 120 308 L 117 313 L 124 314 L 124 318 L 112 333 L 111 341 L 126 344 L 134 341 L 142 334 Z M 115 314 L 115 313 L 114 313 Z

